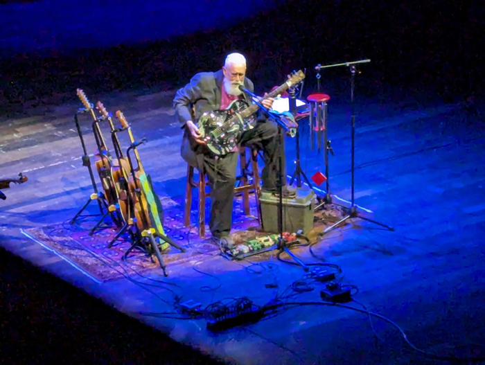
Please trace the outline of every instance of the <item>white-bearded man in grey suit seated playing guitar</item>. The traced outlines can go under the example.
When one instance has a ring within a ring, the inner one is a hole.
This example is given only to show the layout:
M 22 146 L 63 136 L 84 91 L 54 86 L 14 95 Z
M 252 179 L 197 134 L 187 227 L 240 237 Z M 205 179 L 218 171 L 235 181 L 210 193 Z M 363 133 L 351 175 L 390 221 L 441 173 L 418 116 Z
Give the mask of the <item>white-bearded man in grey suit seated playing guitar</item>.
M 251 104 L 251 99 L 238 87 L 244 85 L 249 91 L 254 91 L 254 84 L 245 77 L 246 60 L 239 53 L 227 56 L 222 70 L 217 72 L 197 73 L 191 81 L 177 91 L 173 100 L 175 113 L 184 128 L 181 154 L 191 166 L 204 169 L 211 186 L 211 218 L 209 228 L 213 238 L 221 247 L 231 248 L 233 241 L 229 238 L 232 224 L 232 208 L 234 187 L 236 184 L 236 168 L 238 151 L 215 158 L 202 141 L 197 128 L 198 119 L 204 112 L 226 109 L 238 98 Z M 274 99 L 267 98 L 261 103 L 271 109 Z M 261 109 L 257 114 L 252 130 L 243 132 L 238 145 L 257 148 L 263 152 L 265 167 L 263 168 L 263 190 L 277 193 L 279 146 L 277 127 L 267 121 L 267 114 Z M 286 184 L 283 175 L 283 186 Z M 283 194 L 288 194 L 285 187 Z

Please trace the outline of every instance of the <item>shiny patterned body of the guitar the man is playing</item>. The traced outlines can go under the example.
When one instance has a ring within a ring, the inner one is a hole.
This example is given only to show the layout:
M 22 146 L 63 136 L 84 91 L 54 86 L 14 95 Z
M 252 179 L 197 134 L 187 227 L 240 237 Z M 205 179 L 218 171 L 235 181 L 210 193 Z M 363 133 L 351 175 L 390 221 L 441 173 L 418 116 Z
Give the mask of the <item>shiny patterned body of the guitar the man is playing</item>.
M 241 115 L 248 107 L 244 100 L 234 100 L 225 110 L 202 114 L 198 127 L 209 151 L 218 156 L 231 152 L 240 134 L 253 128 L 254 113 L 246 117 Z

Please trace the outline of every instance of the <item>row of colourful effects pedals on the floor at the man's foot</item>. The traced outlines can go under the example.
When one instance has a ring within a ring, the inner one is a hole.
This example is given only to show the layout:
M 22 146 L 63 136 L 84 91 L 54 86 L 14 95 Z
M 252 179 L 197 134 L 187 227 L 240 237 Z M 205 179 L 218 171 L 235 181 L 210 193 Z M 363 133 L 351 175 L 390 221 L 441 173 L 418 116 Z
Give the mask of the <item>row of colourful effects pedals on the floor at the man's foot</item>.
M 229 249 L 222 253 L 222 256 L 229 260 L 243 260 L 249 256 L 257 255 L 266 251 L 272 251 L 277 248 L 280 235 L 263 235 L 254 238 L 254 240 L 238 244 L 233 249 Z M 283 238 L 288 244 L 297 243 L 296 233 L 283 232 Z

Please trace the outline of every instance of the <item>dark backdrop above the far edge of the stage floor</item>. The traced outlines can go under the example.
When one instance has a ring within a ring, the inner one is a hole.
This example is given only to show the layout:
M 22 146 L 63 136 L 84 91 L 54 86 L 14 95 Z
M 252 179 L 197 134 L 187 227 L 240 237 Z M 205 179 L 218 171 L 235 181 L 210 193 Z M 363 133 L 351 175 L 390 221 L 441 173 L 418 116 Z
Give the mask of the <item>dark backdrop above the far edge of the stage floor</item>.
M 118 1 L 121 5 L 126 2 Z M 21 110 L 26 102 L 61 103 L 76 98 L 77 87 L 89 93 L 175 88 L 197 71 L 218 69 L 230 51 L 247 55 L 248 74 L 260 91 L 280 83 L 288 72 L 300 68 L 308 68 L 307 90 L 312 90 L 316 87 L 315 65 L 361 58 L 370 58 L 372 62 L 361 68 L 359 92 L 382 101 L 420 93 L 448 102 L 476 95 L 482 89 L 485 10 L 479 1 L 252 1 L 260 3 L 263 10 L 256 5 L 252 10 L 241 10 L 245 15 L 242 20 L 236 15 L 238 3 L 244 1 L 232 1 L 227 8 L 220 6 L 220 1 L 215 2 L 219 3 L 217 8 L 211 6 L 211 1 L 166 1 L 183 3 L 188 11 L 179 12 L 174 5 L 173 12 L 168 14 L 170 18 L 165 19 L 163 12 L 153 10 L 153 21 L 158 16 L 160 21 L 151 28 L 136 28 L 136 17 L 125 18 L 125 12 L 121 14 L 123 6 L 114 7 L 112 12 L 94 18 L 106 22 L 100 43 L 123 37 L 127 42 L 98 48 L 96 35 L 82 33 L 94 27 L 94 23 L 85 24 L 81 15 L 78 21 L 64 21 L 67 29 L 51 27 L 39 33 L 39 37 L 30 34 L 35 29 L 23 30 L 25 26 L 17 27 L 17 33 L 10 30 L 11 39 L 14 34 L 29 32 L 24 37 L 28 41 L 6 43 L 9 47 L 0 62 L 3 73 L 0 105 L 3 109 Z M 193 17 L 192 3 L 202 4 L 195 8 L 197 15 L 209 19 L 198 25 L 202 30 L 168 36 L 177 34 L 168 28 L 177 28 L 174 19 L 179 19 L 184 27 L 191 22 L 187 14 Z M 96 9 L 91 12 L 96 14 Z M 8 24 L 13 21 L 10 19 Z M 44 21 L 48 24 L 47 17 Z M 125 21 L 134 33 L 110 38 L 109 29 L 117 34 L 118 28 L 113 28 L 113 24 L 120 21 Z M 151 39 L 156 35 L 161 38 Z M 89 42 L 83 42 L 83 37 Z M 136 37 L 140 42 L 136 42 Z M 53 39 L 50 48 L 46 39 Z M 16 46 L 21 49 L 12 56 Z M 339 94 L 348 87 L 345 68 L 326 70 L 323 76 L 324 89 L 330 94 Z

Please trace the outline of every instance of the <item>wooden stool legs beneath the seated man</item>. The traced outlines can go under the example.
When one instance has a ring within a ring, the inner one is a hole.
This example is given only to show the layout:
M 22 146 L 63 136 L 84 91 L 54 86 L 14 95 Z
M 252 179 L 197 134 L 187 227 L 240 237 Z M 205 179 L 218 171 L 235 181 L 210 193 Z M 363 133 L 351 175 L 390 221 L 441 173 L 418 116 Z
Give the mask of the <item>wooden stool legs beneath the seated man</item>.
M 249 161 L 250 159 L 250 161 Z M 261 221 L 261 214 L 259 214 L 259 195 L 261 194 L 261 185 L 259 184 L 259 172 L 258 172 L 258 152 L 251 150 L 251 156 L 246 158 L 246 148 L 241 147 L 239 149 L 239 163 L 240 163 L 240 176 L 236 177 L 236 186 L 234 187 L 234 193 L 243 194 L 244 213 L 249 215 L 249 191 L 254 190 L 256 197 L 256 205 L 258 206 L 258 218 Z M 249 162 L 252 164 L 252 171 L 247 170 Z M 249 184 L 248 177 L 251 176 L 252 184 Z M 206 175 L 204 172 L 199 171 L 199 181 L 194 181 L 194 168 L 190 165 L 187 167 L 187 184 L 185 190 L 185 209 L 184 209 L 184 224 L 186 227 L 191 225 L 191 206 L 192 206 L 192 189 L 199 189 L 199 236 L 205 235 L 205 206 L 206 197 L 210 196 L 210 192 L 206 192 Z

